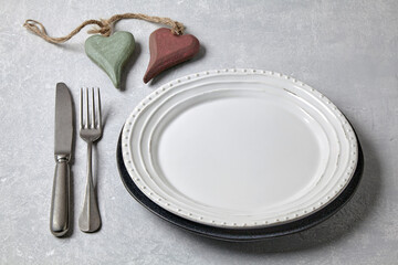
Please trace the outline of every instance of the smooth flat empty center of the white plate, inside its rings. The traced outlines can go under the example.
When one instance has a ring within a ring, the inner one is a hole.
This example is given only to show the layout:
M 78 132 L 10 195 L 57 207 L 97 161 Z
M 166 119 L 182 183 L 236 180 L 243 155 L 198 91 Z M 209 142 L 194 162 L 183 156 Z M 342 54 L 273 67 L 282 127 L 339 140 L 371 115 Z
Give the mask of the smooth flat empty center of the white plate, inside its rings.
M 281 97 L 201 100 L 165 120 L 153 139 L 159 176 L 213 208 L 258 211 L 295 200 L 316 183 L 329 151 L 321 126 Z

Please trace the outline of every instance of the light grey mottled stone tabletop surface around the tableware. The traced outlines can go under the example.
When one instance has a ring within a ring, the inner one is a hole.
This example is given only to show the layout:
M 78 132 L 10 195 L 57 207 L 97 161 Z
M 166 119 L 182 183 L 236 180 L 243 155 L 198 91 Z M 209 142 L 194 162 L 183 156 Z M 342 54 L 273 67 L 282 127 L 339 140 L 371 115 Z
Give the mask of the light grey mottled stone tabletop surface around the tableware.
M 144 85 L 148 36 L 157 24 L 122 21 L 138 43 L 115 89 L 84 54 L 84 30 L 52 45 L 22 28 L 36 19 L 59 36 L 85 19 L 142 12 L 184 22 L 201 41 L 193 61 Z M 396 264 L 398 259 L 397 1 L 8 1 L 0 0 L 1 264 Z M 352 120 L 366 166 L 353 200 L 325 223 L 256 243 L 224 243 L 181 231 L 149 213 L 122 184 L 116 141 L 134 106 L 174 78 L 212 68 L 254 67 L 292 75 L 329 97 Z M 85 144 L 73 165 L 74 222 L 49 231 L 54 170 L 54 88 L 100 86 L 106 125 L 97 145 L 103 227 L 83 234 Z

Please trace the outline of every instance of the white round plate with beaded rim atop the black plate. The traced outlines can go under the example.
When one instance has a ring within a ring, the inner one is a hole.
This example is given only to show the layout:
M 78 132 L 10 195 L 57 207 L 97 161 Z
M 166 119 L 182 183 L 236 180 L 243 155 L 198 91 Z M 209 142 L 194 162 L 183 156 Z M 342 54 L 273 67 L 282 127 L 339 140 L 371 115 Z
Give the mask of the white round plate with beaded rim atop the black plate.
M 185 219 L 229 229 L 296 221 L 332 202 L 357 165 L 344 115 L 294 78 L 209 71 L 145 98 L 123 129 L 134 183 Z

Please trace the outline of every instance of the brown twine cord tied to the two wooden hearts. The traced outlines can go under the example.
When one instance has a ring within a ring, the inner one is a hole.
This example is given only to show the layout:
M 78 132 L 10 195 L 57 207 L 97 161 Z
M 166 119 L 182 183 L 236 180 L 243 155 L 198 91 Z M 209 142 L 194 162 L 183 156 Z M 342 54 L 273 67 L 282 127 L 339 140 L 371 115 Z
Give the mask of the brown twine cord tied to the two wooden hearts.
M 171 28 L 171 32 L 176 35 L 182 35 L 185 26 L 182 23 L 178 21 L 174 21 L 169 18 L 159 18 L 159 17 L 150 17 L 142 13 L 125 13 L 125 14 L 115 14 L 111 17 L 111 19 L 104 20 L 86 20 L 82 24 L 80 24 L 76 29 L 74 29 L 71 33 L 61 38 L 53 38 L 49 36 L 45 31 L 45 28 L 42 23 L 35 20 L 27 20 L 23 24 L 29 31 L 33 32 L 34 34 L 41 36 L 43 40 L 50 43 L 63 43 L 70 40 L 72 36 L 77 34 L 84 26 L 88 24 L 96 24 L 98 28 L 92 29 L 87 31 L 90 34 L 102 34 L 104 36 L 109 36 L 112 34 L 112 26 L 115 22 L 123 20 L 123 19 L 139 19 L 145 20 L 154 23 L 165 24 Z

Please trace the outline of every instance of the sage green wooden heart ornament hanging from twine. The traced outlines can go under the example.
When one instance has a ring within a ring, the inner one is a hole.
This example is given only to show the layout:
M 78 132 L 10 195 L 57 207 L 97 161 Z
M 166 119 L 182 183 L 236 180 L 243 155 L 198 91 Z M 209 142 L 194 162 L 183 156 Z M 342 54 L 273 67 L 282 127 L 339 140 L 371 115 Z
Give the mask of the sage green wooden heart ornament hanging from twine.
M 133 54 L 135 41 L 132 33 L 117 31 L 111 36 L 93 35 L 84 44 L 87 56 L 121 88 L 123 66 Z

